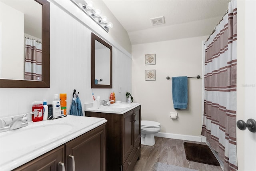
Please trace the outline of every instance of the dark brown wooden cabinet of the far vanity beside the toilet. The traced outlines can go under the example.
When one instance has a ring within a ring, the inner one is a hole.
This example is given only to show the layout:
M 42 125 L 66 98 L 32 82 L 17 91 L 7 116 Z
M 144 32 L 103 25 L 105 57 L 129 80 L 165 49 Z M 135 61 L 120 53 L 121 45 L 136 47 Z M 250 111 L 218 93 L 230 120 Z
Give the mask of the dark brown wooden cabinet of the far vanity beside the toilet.
M 107 122 L 107 171 L 131 171 L 140 159 L 140 106 L 124 113 L 86 111 Z

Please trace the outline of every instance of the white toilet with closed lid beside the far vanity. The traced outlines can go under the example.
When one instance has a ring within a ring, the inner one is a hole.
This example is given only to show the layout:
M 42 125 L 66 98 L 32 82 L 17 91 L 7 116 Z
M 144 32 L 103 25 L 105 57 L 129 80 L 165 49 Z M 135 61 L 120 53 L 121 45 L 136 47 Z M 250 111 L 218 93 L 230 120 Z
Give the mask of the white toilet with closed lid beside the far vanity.
M 141 144 L 142 145 L 155 145 L 154 134 L 160 132 L 161 124 L 155 121 L 141 121 Z

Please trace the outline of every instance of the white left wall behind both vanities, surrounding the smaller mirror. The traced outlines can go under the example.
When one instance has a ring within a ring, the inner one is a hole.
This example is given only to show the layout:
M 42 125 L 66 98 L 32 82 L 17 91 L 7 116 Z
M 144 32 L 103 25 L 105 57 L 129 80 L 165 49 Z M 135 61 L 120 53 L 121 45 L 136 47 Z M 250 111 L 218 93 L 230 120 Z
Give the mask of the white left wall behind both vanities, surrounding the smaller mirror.
M 60 3 L 71 3 L 60 1 Z M 75 8 L 77 10 L 77 7 Z M 32 102 L 46 99 L 52 103 L 55 93 L 67 93 L 67 112 L 70 109 L 73 90 L 79 92 L 83 103 L 92 102 L 92 92 L 108 99 L 110 92 L 115 91 L 116 100 L 126 100 L 125 92 L 131 91 L 131 62 L 132 59 L 125 50 L 121 51 L 118 44 L 113 47 L 113 88 L 91 89 L 91 32 L 86 24 L 77 20 L 76 11 L 66 11 L 58 4 L 50 3 L 50 88 L 1 88 L 0 117 L 14 116 L 32 110 Z M 86 14 L 84 14 L 86 15 Z M 102 29 L 105 39 L 114 42 Z M 99 36 L 99 35 L 98 35 Z M 104 38 L 104 37 L 103 37 Z M 121 93 L 118 93 L 118 86 Z M 84 106 L 83 111 L 84 111 Z

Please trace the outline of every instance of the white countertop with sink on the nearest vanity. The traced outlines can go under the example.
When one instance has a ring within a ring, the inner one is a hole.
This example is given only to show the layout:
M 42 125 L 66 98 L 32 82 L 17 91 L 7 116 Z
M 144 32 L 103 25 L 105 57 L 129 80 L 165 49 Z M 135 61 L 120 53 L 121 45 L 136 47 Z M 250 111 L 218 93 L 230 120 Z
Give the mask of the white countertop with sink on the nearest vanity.
M 1 132 L 0 170 L 15 169 L 106 122 L 104 118 L 67 115 Z

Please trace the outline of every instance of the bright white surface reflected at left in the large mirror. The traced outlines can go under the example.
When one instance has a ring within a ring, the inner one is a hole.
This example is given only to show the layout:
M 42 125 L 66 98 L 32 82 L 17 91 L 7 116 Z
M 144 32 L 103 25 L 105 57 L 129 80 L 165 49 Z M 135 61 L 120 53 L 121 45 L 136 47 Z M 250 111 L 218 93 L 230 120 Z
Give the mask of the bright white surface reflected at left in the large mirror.
M 0 78 L 23 80 L 24 13 L 4 4 L 3 2 L 0 3 Z

